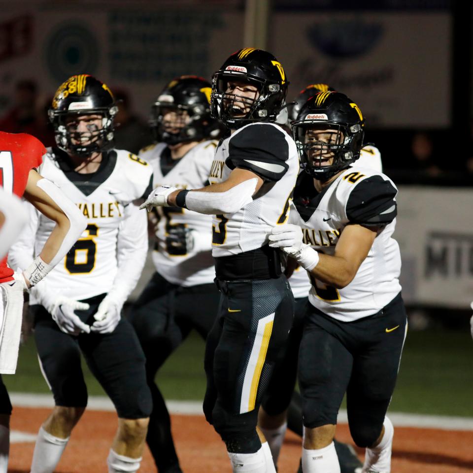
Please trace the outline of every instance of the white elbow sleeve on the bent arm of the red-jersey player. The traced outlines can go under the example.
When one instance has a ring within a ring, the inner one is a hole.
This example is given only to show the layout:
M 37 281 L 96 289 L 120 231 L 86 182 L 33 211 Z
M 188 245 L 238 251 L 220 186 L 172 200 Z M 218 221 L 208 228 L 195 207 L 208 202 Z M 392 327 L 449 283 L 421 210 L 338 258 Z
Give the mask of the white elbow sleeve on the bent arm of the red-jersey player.
M 50 180 L 40 179 L 36 185 L 56 203 L 69 219 L 68 233 L 64 237 L 58 252 L 49 263 L 50 266 L 54 267 L 67 255 L 71 246 L 86 229 L 87 220 L 79 208 Z

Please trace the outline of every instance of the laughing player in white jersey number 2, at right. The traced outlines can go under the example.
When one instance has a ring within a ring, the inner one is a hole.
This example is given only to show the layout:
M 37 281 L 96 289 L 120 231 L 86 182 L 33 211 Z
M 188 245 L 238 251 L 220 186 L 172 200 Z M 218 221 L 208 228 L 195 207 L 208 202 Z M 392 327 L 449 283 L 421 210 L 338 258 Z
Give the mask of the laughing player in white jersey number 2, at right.
M 345 95 L 310 98 L 293 132 L 313 185 L 300 184 L 298 225 L 274 227 L 270 245 L 307 270 L 312 284 L 298 370 L 303 471 L 340 472 L 333 438 L 346 392 L 351 435 L 366 447 L 362 471 L 388 473 L 393 426 L 386 411 L 407 330 L 392 238 L 397 189 L 384 174 L 357 166 L 364 120 Z

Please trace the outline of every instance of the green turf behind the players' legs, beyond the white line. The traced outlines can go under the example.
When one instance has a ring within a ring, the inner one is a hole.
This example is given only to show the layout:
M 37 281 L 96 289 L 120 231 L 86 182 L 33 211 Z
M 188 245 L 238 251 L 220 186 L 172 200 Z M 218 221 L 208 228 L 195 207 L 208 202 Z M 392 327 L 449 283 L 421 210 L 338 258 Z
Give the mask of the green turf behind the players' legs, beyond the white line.
M 201 400 L 205 390 L 203 341 L 192 334 L 158 373 L 165 398 Z M 104 394 L 84 368 L 89 394 Z M 11 392 L 49 392 L 33 338 L 20 349 L 17 374 L 4 375 Z M 390 410 L 473 417 L 473 340 L 463 331 L 410 332 Z

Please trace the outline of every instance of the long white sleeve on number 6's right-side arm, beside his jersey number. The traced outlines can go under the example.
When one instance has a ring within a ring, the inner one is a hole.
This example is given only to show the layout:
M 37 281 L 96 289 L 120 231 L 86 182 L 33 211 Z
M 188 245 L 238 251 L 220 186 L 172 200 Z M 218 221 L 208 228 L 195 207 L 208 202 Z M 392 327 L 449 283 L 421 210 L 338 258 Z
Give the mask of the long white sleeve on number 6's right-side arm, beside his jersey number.
M 137 203 L 125 207 L 124 219 L 118 228 L 118 270 L 112 289 L 108 293 L 119 306 L 123 305 L 135 289 L 148 252 L 148 219 L 140 212 Z

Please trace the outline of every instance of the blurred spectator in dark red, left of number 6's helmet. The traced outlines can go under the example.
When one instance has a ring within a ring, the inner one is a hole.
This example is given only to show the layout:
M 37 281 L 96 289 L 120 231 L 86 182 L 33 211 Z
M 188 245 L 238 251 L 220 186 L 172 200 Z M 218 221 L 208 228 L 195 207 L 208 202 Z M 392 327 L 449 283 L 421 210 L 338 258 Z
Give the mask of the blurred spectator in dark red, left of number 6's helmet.
M 54 143 L 54 135 L 47 126 L 48 118 L 37 106 L 37 88 L 32 80 L 21 80 L 15 87 L 13 107 L 0 120 L 0 130 L 7 133 L 29 133 L 46 146 Z

